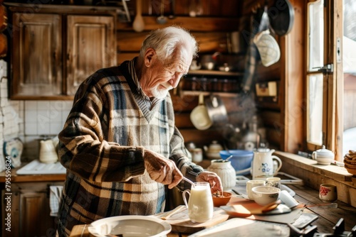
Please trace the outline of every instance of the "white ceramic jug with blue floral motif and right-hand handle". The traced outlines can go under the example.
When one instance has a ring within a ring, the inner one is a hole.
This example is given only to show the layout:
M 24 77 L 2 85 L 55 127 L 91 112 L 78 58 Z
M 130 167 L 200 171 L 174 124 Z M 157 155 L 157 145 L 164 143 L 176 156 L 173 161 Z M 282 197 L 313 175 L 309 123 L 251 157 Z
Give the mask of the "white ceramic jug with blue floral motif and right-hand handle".
M 252 178 L 253 180 L 266 180 L 268 177 L 277 175 L 281 170 L 282 161 L 276 155 L 272 155 L 275 150 L 257 150 L 253 152 L 252 160 Z M 278 166 L 273 169 L 273 160 L 276 160 Z

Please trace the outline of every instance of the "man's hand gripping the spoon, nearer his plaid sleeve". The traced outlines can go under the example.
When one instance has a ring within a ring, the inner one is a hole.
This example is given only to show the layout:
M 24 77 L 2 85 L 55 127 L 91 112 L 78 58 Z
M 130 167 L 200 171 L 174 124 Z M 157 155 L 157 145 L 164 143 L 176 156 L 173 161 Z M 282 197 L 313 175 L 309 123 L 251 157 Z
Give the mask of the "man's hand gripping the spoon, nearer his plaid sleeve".
M 152 180 L 168 184 L 169 189 L 181 182 L 183 175 L 172 160 L 168 160 L 152 150 L 145 150 L 144 160 L 145 169 Z

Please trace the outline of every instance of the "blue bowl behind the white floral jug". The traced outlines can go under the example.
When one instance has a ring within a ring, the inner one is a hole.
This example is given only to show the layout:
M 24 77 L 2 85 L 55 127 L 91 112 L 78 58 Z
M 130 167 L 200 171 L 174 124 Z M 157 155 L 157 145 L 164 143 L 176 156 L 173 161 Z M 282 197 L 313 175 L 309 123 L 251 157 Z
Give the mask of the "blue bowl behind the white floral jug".
M 249 167 L 251 167 L 251 162 L 253 159 L 253 151 L 251 150 L 221 150 L 220 151 L 220 157 L 223 160 L 226 160 L 227 158 L 232 155 L 232 158 L 229 160 L 231 161 L 232 167 L 236 170 L 236 172 L 239 172 L 241 170 L 246 170 Z M 242 172 L 239 173 L 239 175 L 248 175 L 250 174 L 250 171 Z

